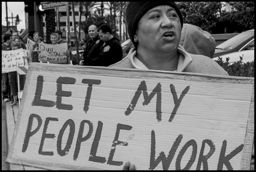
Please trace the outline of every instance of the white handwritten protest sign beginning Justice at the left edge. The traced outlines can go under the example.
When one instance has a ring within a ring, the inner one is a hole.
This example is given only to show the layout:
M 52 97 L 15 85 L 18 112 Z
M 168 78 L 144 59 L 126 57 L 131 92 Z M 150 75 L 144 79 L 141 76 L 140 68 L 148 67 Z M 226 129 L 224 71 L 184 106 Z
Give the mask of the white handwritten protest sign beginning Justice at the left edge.
M 2 50 L 2 73 L 17 71 L 17 67 L 24 66 L 24 50 Z

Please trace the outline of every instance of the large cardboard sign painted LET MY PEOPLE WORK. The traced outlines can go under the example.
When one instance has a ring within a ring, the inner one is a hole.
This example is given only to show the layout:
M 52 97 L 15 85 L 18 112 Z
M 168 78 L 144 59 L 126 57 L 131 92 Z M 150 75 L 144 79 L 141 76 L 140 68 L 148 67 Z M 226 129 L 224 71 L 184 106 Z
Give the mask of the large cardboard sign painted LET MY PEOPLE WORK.
M 7 162 L 249 169 L 254 78 L 32 63 Z

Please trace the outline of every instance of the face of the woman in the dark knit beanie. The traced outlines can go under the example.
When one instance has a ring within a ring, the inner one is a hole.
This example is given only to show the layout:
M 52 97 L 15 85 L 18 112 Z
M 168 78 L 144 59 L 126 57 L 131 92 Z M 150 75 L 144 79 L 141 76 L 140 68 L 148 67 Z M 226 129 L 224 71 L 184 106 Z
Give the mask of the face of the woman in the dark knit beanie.
M 181 23 L 178 13 L 167 5 L 147 11 L 140 19 L 136 31 L 138 49 L 145 51 L 173 52 L 179 46 Z

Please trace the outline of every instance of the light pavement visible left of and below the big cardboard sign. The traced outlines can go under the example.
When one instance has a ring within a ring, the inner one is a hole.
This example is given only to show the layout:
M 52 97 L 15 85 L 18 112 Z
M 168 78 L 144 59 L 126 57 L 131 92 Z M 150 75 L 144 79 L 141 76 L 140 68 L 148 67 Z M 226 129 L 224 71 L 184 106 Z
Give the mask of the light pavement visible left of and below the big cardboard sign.
M 19 104 L 17 103 L 14 106 L 10 106 L 11 104 L 10 101 L 5 103 L 3 102 L 3 100 L 2 100 L 2 104 L 5 104 L 5 109 L 6 109 L 6 124 L 7 124 L 6 129 L 7 129 L 7 135 L 8 135 L 7 140 L 8 140 L 8 151 L 9 151 L 11 147 L 11 141 L 12 141 L 12 136 L 15 128 L 15 123 L 17 120 Z M 2 105 L 2 112 L 3 112 L 3 108 L 4 108 L 4 105 Z M 2 137 L 3 137 L 3 134 L 2 134 Z M 44 169 L 10 164 L 10 170 L 44 170 Z

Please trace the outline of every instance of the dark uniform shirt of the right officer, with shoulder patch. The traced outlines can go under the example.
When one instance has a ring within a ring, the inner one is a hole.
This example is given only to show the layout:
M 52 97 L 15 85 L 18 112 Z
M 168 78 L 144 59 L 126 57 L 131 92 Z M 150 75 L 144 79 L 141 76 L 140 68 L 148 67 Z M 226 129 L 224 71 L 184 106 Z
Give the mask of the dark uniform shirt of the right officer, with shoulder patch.
M 98 57 L 94 58 L 90 66 L 108 67 L 122 60 L 123 51 L 120 42 L 113 37 L 103 45 Z

